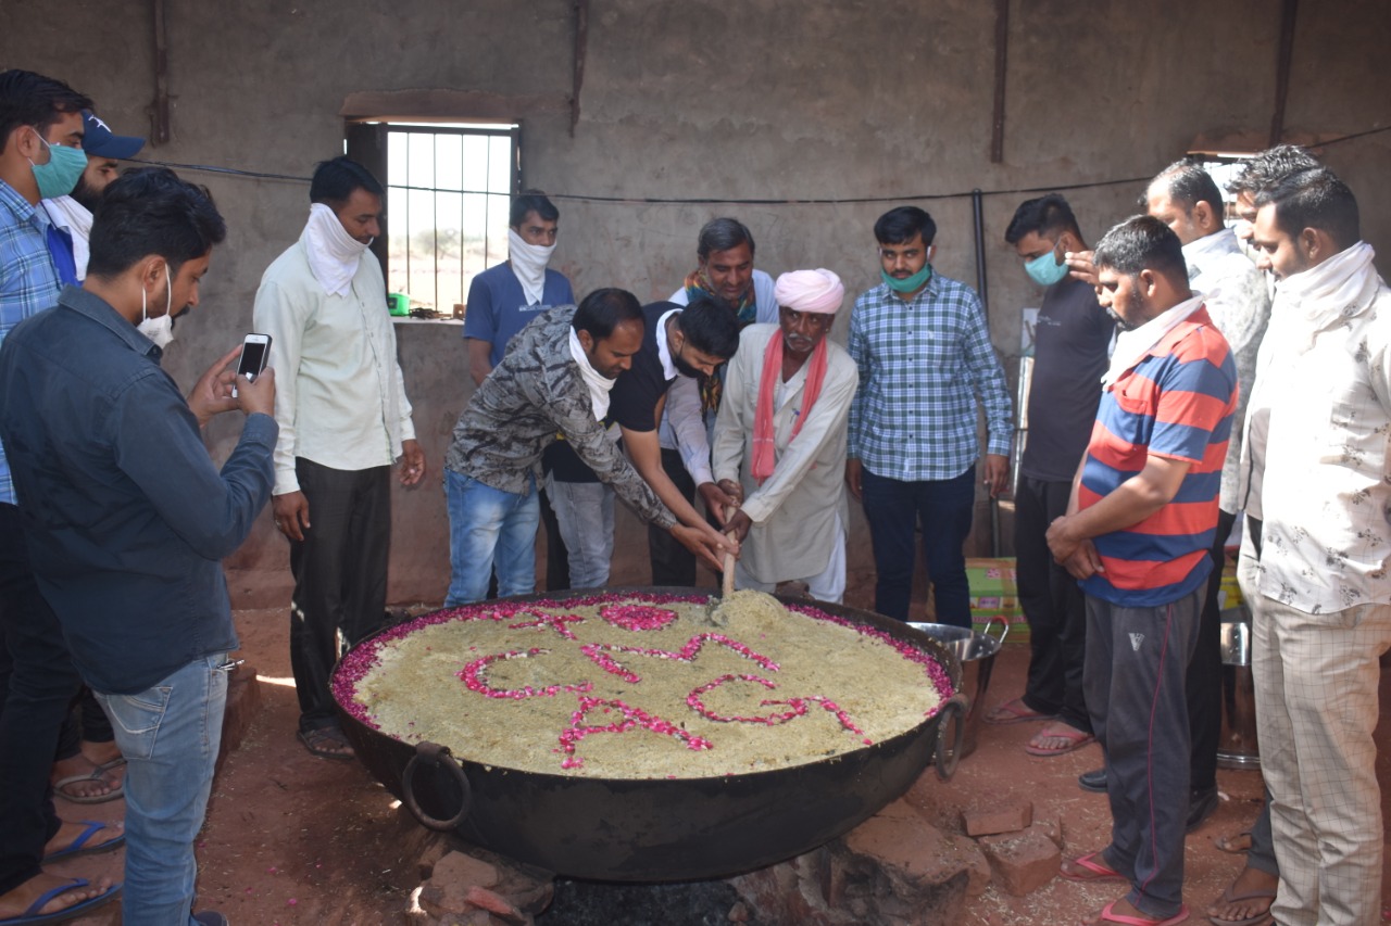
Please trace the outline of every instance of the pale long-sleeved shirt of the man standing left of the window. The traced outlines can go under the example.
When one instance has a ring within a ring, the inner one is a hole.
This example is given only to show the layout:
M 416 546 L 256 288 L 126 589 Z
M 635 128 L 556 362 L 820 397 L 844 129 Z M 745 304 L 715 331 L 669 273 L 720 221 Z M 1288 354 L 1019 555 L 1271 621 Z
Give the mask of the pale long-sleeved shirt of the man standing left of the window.
M 275 495 L 299 491 L 295 457 L 366 470 L 391 466 L 415 439 L 385 292 L 381 264 L 364 254 L 348 293 L 328 295 L 303 236 L 262 277 L 253 327 L 273 338 Z

